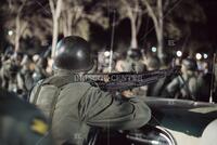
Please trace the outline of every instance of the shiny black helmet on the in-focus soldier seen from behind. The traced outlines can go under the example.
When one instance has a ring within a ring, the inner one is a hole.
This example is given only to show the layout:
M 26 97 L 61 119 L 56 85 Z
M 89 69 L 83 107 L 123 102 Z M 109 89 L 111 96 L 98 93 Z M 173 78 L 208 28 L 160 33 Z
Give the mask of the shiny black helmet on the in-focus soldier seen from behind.
M 90 70 L 93 61 L 89 43 L 77 36 L 63 38 L 55 49 L 54 66 L 74 71 Z

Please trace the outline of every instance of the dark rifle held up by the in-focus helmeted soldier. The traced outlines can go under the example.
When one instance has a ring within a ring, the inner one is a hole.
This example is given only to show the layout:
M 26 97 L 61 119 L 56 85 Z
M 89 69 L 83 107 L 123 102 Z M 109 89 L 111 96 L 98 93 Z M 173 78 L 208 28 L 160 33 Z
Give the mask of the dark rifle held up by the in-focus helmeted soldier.
M 175 66 L 168 69 L 145 71 L 142 74 L 136 72 L 112 72 L 112 74 L 88 74 L 85 77 L 88 81 L 94 85 L 99 87 L 103 91 L 108 92 L 122 92 L 125 90 L 130 90 L 133 88 L 146 85 L 157 80 L 180 75 L 180 66 Z

